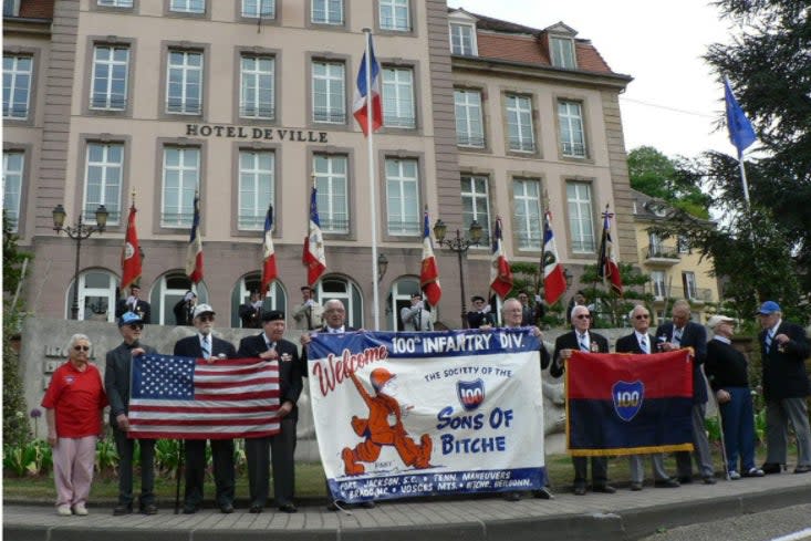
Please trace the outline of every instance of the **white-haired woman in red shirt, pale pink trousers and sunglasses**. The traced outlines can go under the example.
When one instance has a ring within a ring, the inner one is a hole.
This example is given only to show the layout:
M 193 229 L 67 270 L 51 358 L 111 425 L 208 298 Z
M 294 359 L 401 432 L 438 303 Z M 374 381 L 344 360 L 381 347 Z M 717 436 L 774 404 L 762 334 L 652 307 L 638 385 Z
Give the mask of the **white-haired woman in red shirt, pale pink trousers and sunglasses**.
M 107 396 L 98 368 L 90 363 L 90 350 L 87 336 L 71 336 L 67 362 L 53 373 L 42 398 L 48 443 L 53 448 L 56 513 L 65 517 L 87 514 L 96 438 L 104 431 Z

